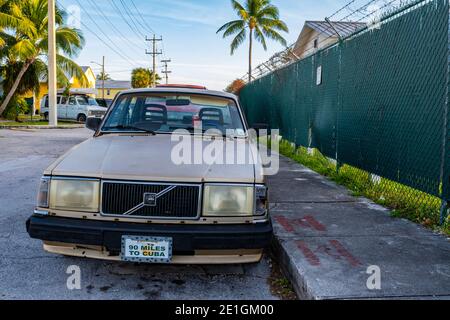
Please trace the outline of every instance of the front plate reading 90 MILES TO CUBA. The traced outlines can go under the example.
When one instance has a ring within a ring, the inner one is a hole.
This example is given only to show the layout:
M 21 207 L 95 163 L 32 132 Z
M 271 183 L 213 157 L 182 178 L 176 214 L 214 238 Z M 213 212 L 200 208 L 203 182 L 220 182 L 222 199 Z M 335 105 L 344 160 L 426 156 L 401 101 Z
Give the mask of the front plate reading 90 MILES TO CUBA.
M 170 263 L 172 260 L 172 238 L 122 236 L 124 261 Z

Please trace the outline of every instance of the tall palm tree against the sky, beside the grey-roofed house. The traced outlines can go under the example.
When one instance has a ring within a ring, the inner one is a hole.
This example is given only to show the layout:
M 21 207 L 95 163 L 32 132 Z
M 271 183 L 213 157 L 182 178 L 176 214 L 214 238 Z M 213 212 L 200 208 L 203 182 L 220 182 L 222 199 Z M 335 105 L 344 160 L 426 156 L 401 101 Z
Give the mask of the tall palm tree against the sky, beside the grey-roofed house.
M 286 23 L 280 20 L 278 8 L 270 3 L 270 0 L 246 0 L 241 5 L 236 0 L 231 0 L 231 5 L 239 16 L 238 20 L 225 23 L 217 30 L 224 31 L 223 37 L 237 34 L 231 42 L 231 54 L 244 42 L 249 30 L 249 54 L 248 54 L 248 80 L 252 80 L 252 48 L 253 37 L 267 50 L 266 37 L 280 42 L 286 46 L 286 40 L 278 31 L 289 32 Z

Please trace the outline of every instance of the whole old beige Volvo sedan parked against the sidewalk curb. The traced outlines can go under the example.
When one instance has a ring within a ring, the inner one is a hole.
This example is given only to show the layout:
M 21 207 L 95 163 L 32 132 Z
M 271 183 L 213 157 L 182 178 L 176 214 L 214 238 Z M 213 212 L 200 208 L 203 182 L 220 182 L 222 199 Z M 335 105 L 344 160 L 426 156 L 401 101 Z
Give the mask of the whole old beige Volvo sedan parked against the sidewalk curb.
M 123 91 L 93 137 L 44 172 L 27 221 L 48 252 L 148 263 L 251 263 L 270 244 L 268 192 L 236 96 Z

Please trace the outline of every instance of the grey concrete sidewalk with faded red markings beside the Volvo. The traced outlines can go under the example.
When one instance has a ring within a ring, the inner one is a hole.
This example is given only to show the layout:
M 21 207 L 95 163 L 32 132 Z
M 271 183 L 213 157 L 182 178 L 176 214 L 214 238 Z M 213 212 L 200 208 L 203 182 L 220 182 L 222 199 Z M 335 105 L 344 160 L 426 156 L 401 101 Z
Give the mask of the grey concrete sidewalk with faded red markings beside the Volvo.
M 306 299 L 450 299 L 450 241 L 281 157 L 274 253 Z M 381 289 L 368 289 L 377 266 Z M 375 267 L 376 268 L 376 267 Z

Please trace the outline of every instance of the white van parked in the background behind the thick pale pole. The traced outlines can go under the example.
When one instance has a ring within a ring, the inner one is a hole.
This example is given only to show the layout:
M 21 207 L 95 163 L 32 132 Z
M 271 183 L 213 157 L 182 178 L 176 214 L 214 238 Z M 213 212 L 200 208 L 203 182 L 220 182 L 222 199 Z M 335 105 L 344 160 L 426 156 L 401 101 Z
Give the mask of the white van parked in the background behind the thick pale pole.
M 85 122 L 88 117 L 101 118 L 105 115 L 107 108 L 100 107 L 94 98 L 84 94 L 73 94 L 70 96 L 57 96 L 58 119 L 76 120 Z M 41 100 L 40 113 L 48 119 L 48 95 Z

